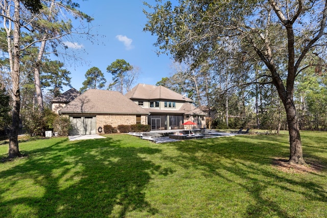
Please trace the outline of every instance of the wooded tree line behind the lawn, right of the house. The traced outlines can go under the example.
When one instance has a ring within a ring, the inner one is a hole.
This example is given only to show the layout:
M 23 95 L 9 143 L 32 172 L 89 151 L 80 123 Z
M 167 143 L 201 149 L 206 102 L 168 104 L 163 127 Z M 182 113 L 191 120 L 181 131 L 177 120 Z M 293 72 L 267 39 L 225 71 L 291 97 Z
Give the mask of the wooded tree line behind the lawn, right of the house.
M 156 85 L 165 86 L 195 100 L 207 112 L 208 128 L 237 129 L 250 127 L 287 130 L 283 103 L 272 84 L 240 81 L 239 77 L 217 74 L 214 68 L 192 68 L 186 63 L 173 64 L 175 74 L 164 77 Z M 230 69 L 235 70 L 235 69 Z M 259 67 L 254 69 L 260 74 Z M 258 79 L 258 81 L 260 81 Z M 327 77 L 325 69 L 311 67 L 300 72 L 295 80 L 294 104 L 300 130 L 327 130 Z

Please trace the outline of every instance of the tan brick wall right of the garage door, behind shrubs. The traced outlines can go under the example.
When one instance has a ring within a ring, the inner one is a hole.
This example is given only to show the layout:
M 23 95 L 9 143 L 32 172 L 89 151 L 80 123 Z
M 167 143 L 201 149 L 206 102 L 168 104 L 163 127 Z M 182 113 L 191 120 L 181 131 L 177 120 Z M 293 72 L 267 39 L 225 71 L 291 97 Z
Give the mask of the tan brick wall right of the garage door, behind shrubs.
M 98 128 L 104 125 L 111 125 L 112 127 L 118 127 L 119 125 L 134 125 L 136 124 L 135 114 L 106 114 L 97 115 L 97 134 Z M 146 125 L 146 115 L 141 115 L 141 124 Z M 102 131 L 102 133 L 104 133 Z

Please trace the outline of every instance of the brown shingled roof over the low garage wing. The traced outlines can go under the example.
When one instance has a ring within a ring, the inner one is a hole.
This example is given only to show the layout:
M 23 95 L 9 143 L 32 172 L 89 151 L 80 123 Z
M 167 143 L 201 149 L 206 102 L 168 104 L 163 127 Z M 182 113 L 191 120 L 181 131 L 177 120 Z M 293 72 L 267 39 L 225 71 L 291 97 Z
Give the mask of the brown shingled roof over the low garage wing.
M 85 91 L 59 113 L 149 114 L 120 92 L 99 89 Z

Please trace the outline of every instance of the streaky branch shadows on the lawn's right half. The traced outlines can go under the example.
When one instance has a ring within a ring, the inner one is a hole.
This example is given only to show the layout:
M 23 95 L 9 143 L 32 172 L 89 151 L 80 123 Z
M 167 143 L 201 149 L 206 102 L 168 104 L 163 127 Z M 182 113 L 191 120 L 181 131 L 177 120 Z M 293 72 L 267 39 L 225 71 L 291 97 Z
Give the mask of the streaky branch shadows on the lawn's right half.
M 187 140 L 170 143 L 170 146 L 181 154 L 178 157 L 166 158 L 184 168 L 201 169 L 203 176 L 208 179 L 218 177 L 232 187 L 244 190 L 254 203 L 247 200 L 239 202 L 246 205 L 244 211 L 237 211 L 242 217 L 294 217 L 294 211 L 289 213 L 285 205 L 280 203 L 281 200 L 273 197 L 276 193 L 267 192 L 276 189 L 281 191 L 282 195 L 289 192 L 295 196 L 302 196 L 301 198 L 305 198 L 306 201 L 321 204 L 327 202 L 327 192 L 324 185 L 317 182 L 321 178 L 317 181 L 307 181 L 270 168 L 276 151 L 279 155 L 288 154 L 289 148 L 283 143 L 275 140 L 267 142 L 266 138 L 263 141 L 256 138 L 255 142 L 251 142 L 242 137 L 230 137 L 226 140 L 221 138 Z M 282 199 L 287 199 L 287 195 Z M 292 200 L 288 199 L 286 202 L 290 203 Z

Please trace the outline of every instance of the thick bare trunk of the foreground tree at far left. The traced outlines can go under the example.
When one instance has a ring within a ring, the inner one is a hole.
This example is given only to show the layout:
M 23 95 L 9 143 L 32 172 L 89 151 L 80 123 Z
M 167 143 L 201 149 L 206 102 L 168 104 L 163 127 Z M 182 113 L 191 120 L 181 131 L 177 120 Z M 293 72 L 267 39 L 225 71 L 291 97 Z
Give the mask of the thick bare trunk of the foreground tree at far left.
M 19 1 L 14 0 L 14 37 L 13 37 L 13 64 L 11 69 L 12 80 L 12 96 L 13 96 L 13 110 L 12 110 L 12 125 L 9 134 L 9 158 L 21 157 L 18 149 L 18 131 L 19 131 L 19 113 L 20 113 L 20 90 L 19 90 L 19 39 L 20 39 L 20 18 L 19 18 Z

